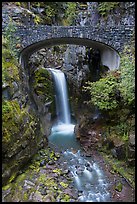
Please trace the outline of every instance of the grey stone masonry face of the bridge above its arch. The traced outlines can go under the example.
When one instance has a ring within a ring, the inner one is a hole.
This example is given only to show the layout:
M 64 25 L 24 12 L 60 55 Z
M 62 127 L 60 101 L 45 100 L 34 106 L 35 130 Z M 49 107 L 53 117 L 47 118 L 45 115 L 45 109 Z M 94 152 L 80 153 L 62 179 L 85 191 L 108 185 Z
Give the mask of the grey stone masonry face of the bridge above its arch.
M 98 41 L 121 51 L 133 35 L 133 26 L 88 27 L 88 26 L 18 26 L 15 32 L 20 37 L 21 46 L 25 48 L 33 43 L 52 38 L 85 38 Z M 70 39 L 71 40 L 71 39 Z

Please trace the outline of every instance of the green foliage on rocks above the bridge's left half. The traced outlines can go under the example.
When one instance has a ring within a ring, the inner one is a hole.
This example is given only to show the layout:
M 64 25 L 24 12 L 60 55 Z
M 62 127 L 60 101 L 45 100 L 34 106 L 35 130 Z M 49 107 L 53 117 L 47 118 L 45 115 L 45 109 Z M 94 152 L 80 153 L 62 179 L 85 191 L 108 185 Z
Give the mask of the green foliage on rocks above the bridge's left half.
M 16 6 L 29 9 L 30 12 L 42 8 L 42 13 L 34 14 L 35 24 L 65 25 L 74 23 L 77 2 L 14 2 Z

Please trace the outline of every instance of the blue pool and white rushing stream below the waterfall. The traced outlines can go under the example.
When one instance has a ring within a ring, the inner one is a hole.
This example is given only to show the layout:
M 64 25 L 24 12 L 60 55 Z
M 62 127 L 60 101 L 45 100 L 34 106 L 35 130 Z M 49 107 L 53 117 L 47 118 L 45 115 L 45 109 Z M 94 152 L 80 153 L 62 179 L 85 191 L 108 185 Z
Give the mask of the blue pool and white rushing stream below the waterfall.
M 63 129 L 64 128 L 64 129 Z M 64 163 L 72 175 L 75 188 L 81 193 L 80 202 L 110 201 L 107 191 L 109 183 L 97 162 L 86 158 L 75 138 L 74 125 L 54 126 L 49 136 L 49 144 L 54 144 L 62 152 Z

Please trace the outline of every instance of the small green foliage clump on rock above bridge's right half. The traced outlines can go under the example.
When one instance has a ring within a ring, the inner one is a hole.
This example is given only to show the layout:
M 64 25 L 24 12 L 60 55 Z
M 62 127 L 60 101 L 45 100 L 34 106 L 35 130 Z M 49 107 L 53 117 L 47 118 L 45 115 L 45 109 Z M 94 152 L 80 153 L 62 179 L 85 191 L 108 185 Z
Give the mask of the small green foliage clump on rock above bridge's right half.
M 119 2 L 99 2 L 98 11 L 102 16 L 106 16 L 118 5 Z

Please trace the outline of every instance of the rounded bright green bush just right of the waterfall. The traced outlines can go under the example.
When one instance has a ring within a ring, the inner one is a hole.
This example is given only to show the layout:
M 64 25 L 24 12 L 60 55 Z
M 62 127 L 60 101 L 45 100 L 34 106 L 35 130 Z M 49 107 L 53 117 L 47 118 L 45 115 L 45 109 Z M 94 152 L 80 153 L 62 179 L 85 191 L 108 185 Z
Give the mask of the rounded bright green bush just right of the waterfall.
M 116 90 L 118 88 L 117 78 L 112 74 L 96 82 L 87 82 L 85 91 L 90 92 L 91 103 L 98 106 L 100 110 L 113 110 L 117 108 Z

